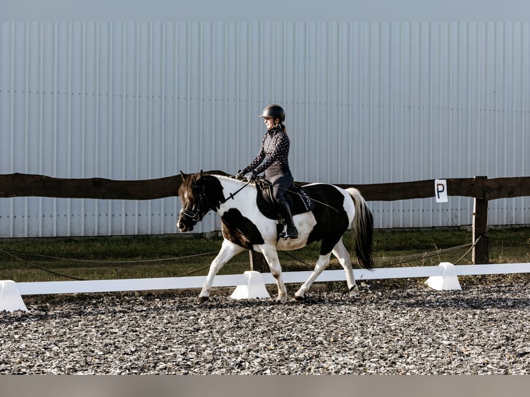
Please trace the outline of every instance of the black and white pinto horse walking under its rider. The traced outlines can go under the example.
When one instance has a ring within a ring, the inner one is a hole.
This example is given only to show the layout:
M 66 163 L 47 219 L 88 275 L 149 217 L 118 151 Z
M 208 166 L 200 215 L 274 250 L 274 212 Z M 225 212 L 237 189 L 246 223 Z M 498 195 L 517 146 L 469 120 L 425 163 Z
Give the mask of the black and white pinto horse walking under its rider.
M 342 242 L 350 225 L 354 229 L 356 256 L 360 267 L 373 268 L 372 236 L 373 215 L 365 199 L 354 187 L 346 190 L 326 183 L 303 185 L 304 192 L 316 203 L 313 210 L 295 214 L 298 239 L 282 239 L 279 216 L 271 219 L 259 209 L 259 190 L 254 181 L 240 181 L 222 172 L 184 174 L 179 187 L 182 207 L 176 226 L 181 232 L 193 230 L 210 210 L 221 217 L 223 243 L 217 257 L 210 264 L 198 302 L 210 297 L 212 282 L 227 261 L 244 250 L 254 250 L 264 255 L 275 278 L 277 303 L 286 303 L 287 293 L 282 280 L 282 267 L 277 251 L 297 250 L 315 241 L 320 243 L 320 256 L 307 281 L 295 293 L 293 300 L 303 301 L 307 290 L 329 265 L 331 254 L 337 257 L 346 273 L 349 297 L 358 296 L 358 287 L 351 267 L 351 258 Z M 286 194 L 289 194 L 289 191 Z M 291 194 L 292 195 L 292 194 Z

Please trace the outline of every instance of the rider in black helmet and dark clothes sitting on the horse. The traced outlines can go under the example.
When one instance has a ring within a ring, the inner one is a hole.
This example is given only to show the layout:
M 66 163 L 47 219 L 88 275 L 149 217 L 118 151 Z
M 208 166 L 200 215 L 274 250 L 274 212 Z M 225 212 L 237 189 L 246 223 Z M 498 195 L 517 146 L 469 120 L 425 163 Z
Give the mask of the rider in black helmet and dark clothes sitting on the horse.
M 270 104 L 263 109 L 259 117 L 264 119 L 267 127 L 267 132 L 262 138 L 262 146 L 256 158 L 238 172 L 236 178 L 243 179 L 248 172 L 252 172 L 248 179 L 253 181 L 257 174 L 265 172 L 266 180 L 273 185 L 273 196 L 278 211 L 287 225 L 286 234 L 280 237 L 298 239 L 298 230 L 293 222 L 291 207 L 284 199 L 284 193 L 293 183 L 293 174 L 289 169 L 288 160 L 289 137 L 283 124 L 285 111 L 280 105 Z

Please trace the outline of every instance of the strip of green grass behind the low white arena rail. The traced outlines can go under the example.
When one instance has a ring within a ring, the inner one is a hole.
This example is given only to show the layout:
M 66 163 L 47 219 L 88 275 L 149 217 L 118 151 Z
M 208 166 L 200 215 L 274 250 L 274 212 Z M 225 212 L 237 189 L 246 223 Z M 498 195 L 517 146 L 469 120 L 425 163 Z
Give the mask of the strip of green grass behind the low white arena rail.
M 354 252 L 351 235 L 347 234 L 344 241 L 349 251 Z M 0 279 L 52 281 L 205 275 L 221 242 L 216 235 L 1 239 Z M 376 267 L 436 266 L 441 261 L 470 264 L 470 242 L 471 232 L 462 228 L 376 230 L 374 261 Z M 530 228 L 491 229 L 488 243 L 490 263 L 530 262 Z M 315 243 L 302 250 L 280 252 L 284 271 L 311 270 L 319 249 L 320 244 Z M 243 273 L 249 268 L 249 255 L 243 252 L 229 261 L 220 274 Z M 340 265 L 332 259 L 329 268 L 337 269 Z M 467 282 L 476 278 L 470 277 Z M 372 281 L 372 285 L 420 282 L 423 280 L 382 280 Z

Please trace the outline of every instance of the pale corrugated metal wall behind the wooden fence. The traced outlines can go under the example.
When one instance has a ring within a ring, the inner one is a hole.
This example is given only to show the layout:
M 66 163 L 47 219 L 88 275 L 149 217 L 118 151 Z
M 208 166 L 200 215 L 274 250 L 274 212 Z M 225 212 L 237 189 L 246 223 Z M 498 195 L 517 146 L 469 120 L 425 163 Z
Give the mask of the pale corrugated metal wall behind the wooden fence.
M 279 102 L 298 181 L 530 176 L 528 70 L 528 23 L 0 24 L 0 174 L 236 172 Z M 471 199 L 433 201 L 370 204 L 378 228 L 470 223 Z M 493 201 L 488 223 L 529 207 Z M 0 199 L 0 237 L 174 233 L 178 211 Z

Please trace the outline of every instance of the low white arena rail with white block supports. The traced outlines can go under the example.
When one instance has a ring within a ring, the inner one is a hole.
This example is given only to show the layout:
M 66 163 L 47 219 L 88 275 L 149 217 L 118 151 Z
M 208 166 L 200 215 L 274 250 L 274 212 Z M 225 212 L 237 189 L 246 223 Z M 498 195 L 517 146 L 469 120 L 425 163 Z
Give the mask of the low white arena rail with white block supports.
M 437 290 L 459 290 L 458 276 L 500 275 L 530 273 L 530 264 L 488 264 L 453 265 L 448 262 L 439 266 L 411 266 L 405 268 L 376 268 L 375 270 L 354 270 L 356 280 L 403 279 L 428 277 L 426 284 Z M 311 271 L 282 273 L 286 284 L 303 283 Z M 345 281 L 344 270 L 325 270 L 316 281 Z M 44 281 L 21 282 L 0 280 L 0 311 L 27 311 L 21 295 L 48 295 L 69 293 L 102 293 L 140 290 L 173 290 L 201 288 L 205 276 L 162 277 L 146 279 L 111 279 L 89 281 Z M 248 271 L 242 275 L 217 275 L 214 287 L 236 287 L 234 299 L 255 299 L 268 297 L 266 284 L 275 284 L 271 273 Z

